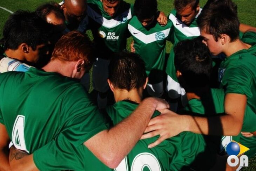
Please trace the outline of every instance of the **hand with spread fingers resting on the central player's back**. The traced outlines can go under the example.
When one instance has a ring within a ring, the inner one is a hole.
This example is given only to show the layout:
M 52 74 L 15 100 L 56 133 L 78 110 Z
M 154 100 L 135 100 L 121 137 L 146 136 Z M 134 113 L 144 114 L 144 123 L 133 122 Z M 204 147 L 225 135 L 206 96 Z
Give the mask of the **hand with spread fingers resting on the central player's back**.
M 181 133 L 184 128 L 183 115 L 178 115 L 169 109 L 160 110 L 161 115 L 154 117 L 148 123 L 148 127 L 142 135 L 142 139 L 151 138 L 160 135 L 159 139 L 148 145 L 148 148 L 155 147 L 167 138 L 173 137 Z

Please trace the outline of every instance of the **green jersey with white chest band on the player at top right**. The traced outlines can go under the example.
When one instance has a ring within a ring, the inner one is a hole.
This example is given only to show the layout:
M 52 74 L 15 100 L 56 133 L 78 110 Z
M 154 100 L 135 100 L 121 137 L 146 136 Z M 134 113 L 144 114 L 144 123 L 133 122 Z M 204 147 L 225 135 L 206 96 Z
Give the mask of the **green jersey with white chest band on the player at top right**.
M 200 36 L 200 29 L 197 26 L 196 20 L 198 15 L 200 15 L 202 11 L 202 8 L 200 8 L 198 14 L 196 15 L 195 19 L 191 22 L 189 26 L 184 24 L 179 17 L 177 16 L 176 10 L 172 10 L 169 14 L 169 19 L 172 22 L 171 26 L 171 35 L 169 36 L 169 40 L 171 43 L 173 43 L 173 47 L 180 41 L 186 40 L 186 39 L 193 39 L 195 37 Z M 174 80 L 176 83 L 178 83 L 178 79 L 176 76 L 176 69 L 174 66 L 174 50 L 171 49 L 170 55 L 167 60 L 166 65 L 166 73 L 170 77 L 170 79 Z M 175 87 L 173 87 L 176 89 Z M 167 87 L 168 89 L 168 87 Z

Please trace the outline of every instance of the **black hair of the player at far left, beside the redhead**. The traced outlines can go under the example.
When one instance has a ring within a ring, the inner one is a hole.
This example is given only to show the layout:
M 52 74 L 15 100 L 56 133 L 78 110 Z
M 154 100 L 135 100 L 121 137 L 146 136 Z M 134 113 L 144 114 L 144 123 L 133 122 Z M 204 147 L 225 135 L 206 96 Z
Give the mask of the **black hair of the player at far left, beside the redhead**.
M 19 10 L 10 15 L 5 23 L 2 38 L 4 50 L 16 50 L 21 43 L 26 43 L 35 50 L 37 45 L 48 43 L 51 28 L 35 12 Z

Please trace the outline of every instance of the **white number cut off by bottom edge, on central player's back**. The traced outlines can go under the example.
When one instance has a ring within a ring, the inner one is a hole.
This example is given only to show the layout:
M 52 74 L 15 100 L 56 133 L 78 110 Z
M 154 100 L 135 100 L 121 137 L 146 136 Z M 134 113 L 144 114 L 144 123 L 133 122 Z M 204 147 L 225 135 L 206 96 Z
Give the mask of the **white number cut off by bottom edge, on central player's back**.
M 148 152 L 142 152 L 134 157 L 130 171 L 142 171 L 145 167 L 147 167 L 150 171 L 161 171 L 161 167 L 157 158 Z M 129 171 L 127 156 L 117 166 L 115 171 Z

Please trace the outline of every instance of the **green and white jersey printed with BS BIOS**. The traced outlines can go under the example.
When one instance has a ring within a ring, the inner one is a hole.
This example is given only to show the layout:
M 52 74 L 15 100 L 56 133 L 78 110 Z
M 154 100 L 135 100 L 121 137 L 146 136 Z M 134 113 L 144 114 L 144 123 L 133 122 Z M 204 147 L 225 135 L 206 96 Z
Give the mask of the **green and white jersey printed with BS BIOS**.
M 108 59 L 106 54 L 110 56 L 112 52 L 126 49 L 127 26 L 134 14 L 133 5 L 121 0 L 116 16 L 112 18 L 104 11 L 100 0 L 88 0 L 87 3 L 88 28 L 92 30 L 100 57 Z

